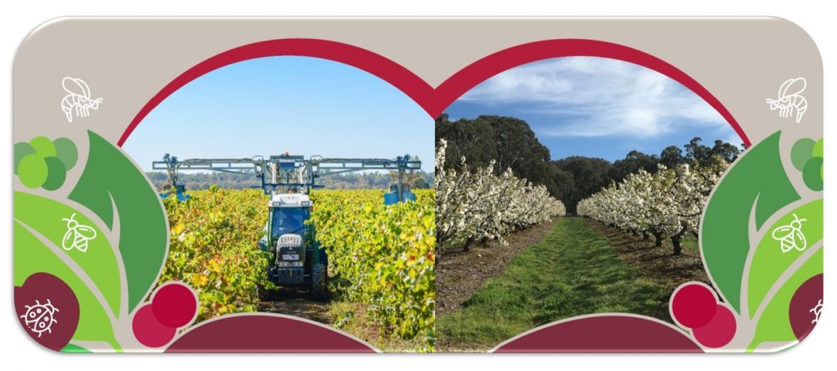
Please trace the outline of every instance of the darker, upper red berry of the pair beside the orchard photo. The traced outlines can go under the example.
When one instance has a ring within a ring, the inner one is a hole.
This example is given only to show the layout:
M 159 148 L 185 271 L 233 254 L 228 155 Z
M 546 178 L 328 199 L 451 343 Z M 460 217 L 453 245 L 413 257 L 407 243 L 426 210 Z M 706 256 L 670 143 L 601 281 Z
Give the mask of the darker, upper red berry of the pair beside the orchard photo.
M 711 290 L 697 283 L 687 283 L 675 290 L 671 313 L 686 328 L 700 328 L 715 316 L 716 298 Z

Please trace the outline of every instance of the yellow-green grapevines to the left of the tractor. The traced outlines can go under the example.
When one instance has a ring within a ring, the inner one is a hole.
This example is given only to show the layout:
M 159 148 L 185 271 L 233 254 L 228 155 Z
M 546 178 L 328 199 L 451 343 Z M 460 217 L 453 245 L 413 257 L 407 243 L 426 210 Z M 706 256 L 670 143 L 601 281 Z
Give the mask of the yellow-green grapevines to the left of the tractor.
M 270 287 L 270 254 L 258 247 L 267 221 L 261 190 L 191 192 L 189 201 L 163 200 L 171 231 L 158 282 L 186 282 L 198 292 L 198 322 L 227 313 L 255 312 L 257 284 Z

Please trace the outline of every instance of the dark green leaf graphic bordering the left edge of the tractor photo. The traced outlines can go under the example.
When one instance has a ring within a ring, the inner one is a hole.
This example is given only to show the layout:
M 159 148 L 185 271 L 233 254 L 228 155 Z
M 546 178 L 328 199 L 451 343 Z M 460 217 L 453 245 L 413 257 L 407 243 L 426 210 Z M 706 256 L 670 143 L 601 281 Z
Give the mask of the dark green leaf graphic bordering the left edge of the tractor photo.
M 92 131 L 90 155 L 69 199 L 95 212 L 113 228 L 119 218 L 119 252 L 125 265 L 128 310 L 154 284 L 166 255 L 167 226 L 160 199 L 141 171 L 107 140 Z

